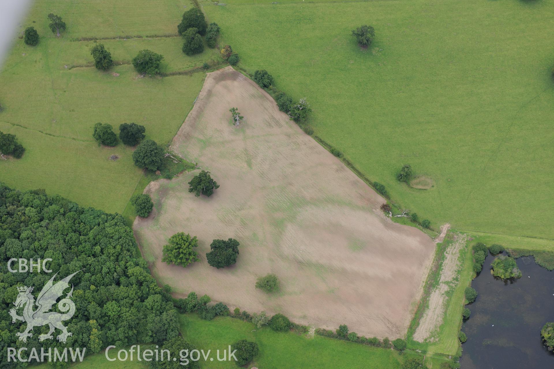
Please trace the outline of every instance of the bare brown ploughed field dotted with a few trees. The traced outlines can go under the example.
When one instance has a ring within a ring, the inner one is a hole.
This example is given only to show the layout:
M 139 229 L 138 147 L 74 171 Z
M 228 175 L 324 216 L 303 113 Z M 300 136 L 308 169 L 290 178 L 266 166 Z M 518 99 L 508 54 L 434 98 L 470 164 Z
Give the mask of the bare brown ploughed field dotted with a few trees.
M 230 107 L 245 117 L 239 127 Z M 283 313 L 327 329 L 347 324 L 366 336 L 406 333 L 433 241 L 382 215 L 381 196 L 253 81 L 231 67 L 209 73 L 172 147 L 220 184 L 210 198 L 196 198 L 187 185 L 193 171 L 146 189 L 155 211 L 137 217 L 135 234 L 155 276 L 178 297 L 195 291 L 230 309 Z M 176 232 L 198 236 L 200 261 L 162 263 L 162 247 Z M 237 264 L 209 266 L 209 244 L 229 237 L 240 242 Z M 279 277 L 280 293 L 255 289 L 267 273 Z

